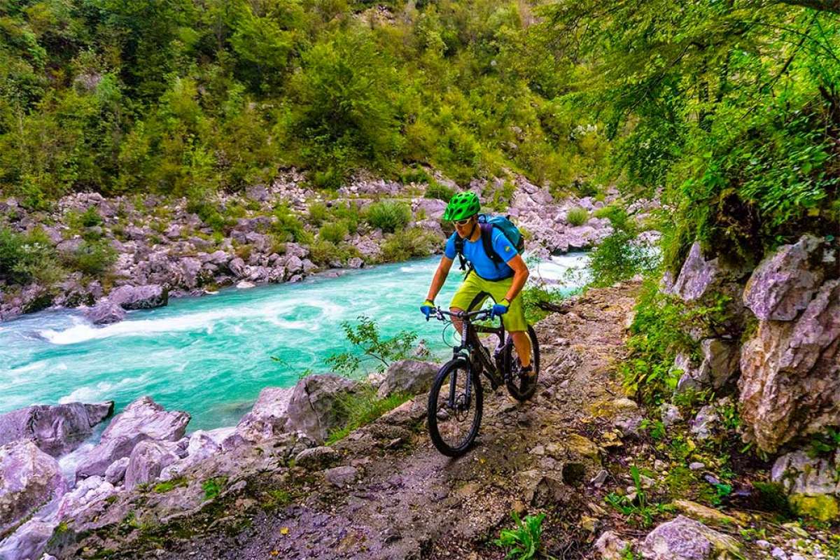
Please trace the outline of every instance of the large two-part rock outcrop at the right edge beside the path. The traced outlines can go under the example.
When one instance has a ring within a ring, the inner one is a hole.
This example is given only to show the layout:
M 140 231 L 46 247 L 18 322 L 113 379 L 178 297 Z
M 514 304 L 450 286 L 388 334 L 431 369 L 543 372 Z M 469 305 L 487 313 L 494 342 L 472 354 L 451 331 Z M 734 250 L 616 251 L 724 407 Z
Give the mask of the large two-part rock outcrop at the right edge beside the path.
M 764 259 L 744 291 L 761 320 L 741 349 L 741 417 L 766 452 L 840 424 L 838 275 L 836 248 L 805 236 Z

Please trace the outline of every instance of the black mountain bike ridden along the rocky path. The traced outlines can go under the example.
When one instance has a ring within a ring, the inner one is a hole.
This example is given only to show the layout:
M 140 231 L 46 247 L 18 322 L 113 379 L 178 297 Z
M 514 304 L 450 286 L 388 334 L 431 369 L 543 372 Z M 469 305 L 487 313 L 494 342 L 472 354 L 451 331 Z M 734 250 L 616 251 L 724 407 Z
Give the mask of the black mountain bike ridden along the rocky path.
M 437 307 L 434 317 L 443 322 L 451 322 L 454 317 L 464 325 L 461 343 L 452 349 L 452 359 L 438 370 L 428 394 L 428 434 L 434 447 L 448 457 L 459 457 L 470 449 L 478 436 L 484 406 L 482 373 L 489 379 L 492 390 L 505 385 L 507 392 L 516 400 L 528 400 L 537 390 L 537 333 L 528 326 L 533 374 L 522 374 L 513 338 L 510 335 L 505 338 L 504 325 L 488 327 L 478 324 L 491 319 L 491 310 L 453 313 Z M 492 356 L 481 343 L 480 333 L 498 338 Z

